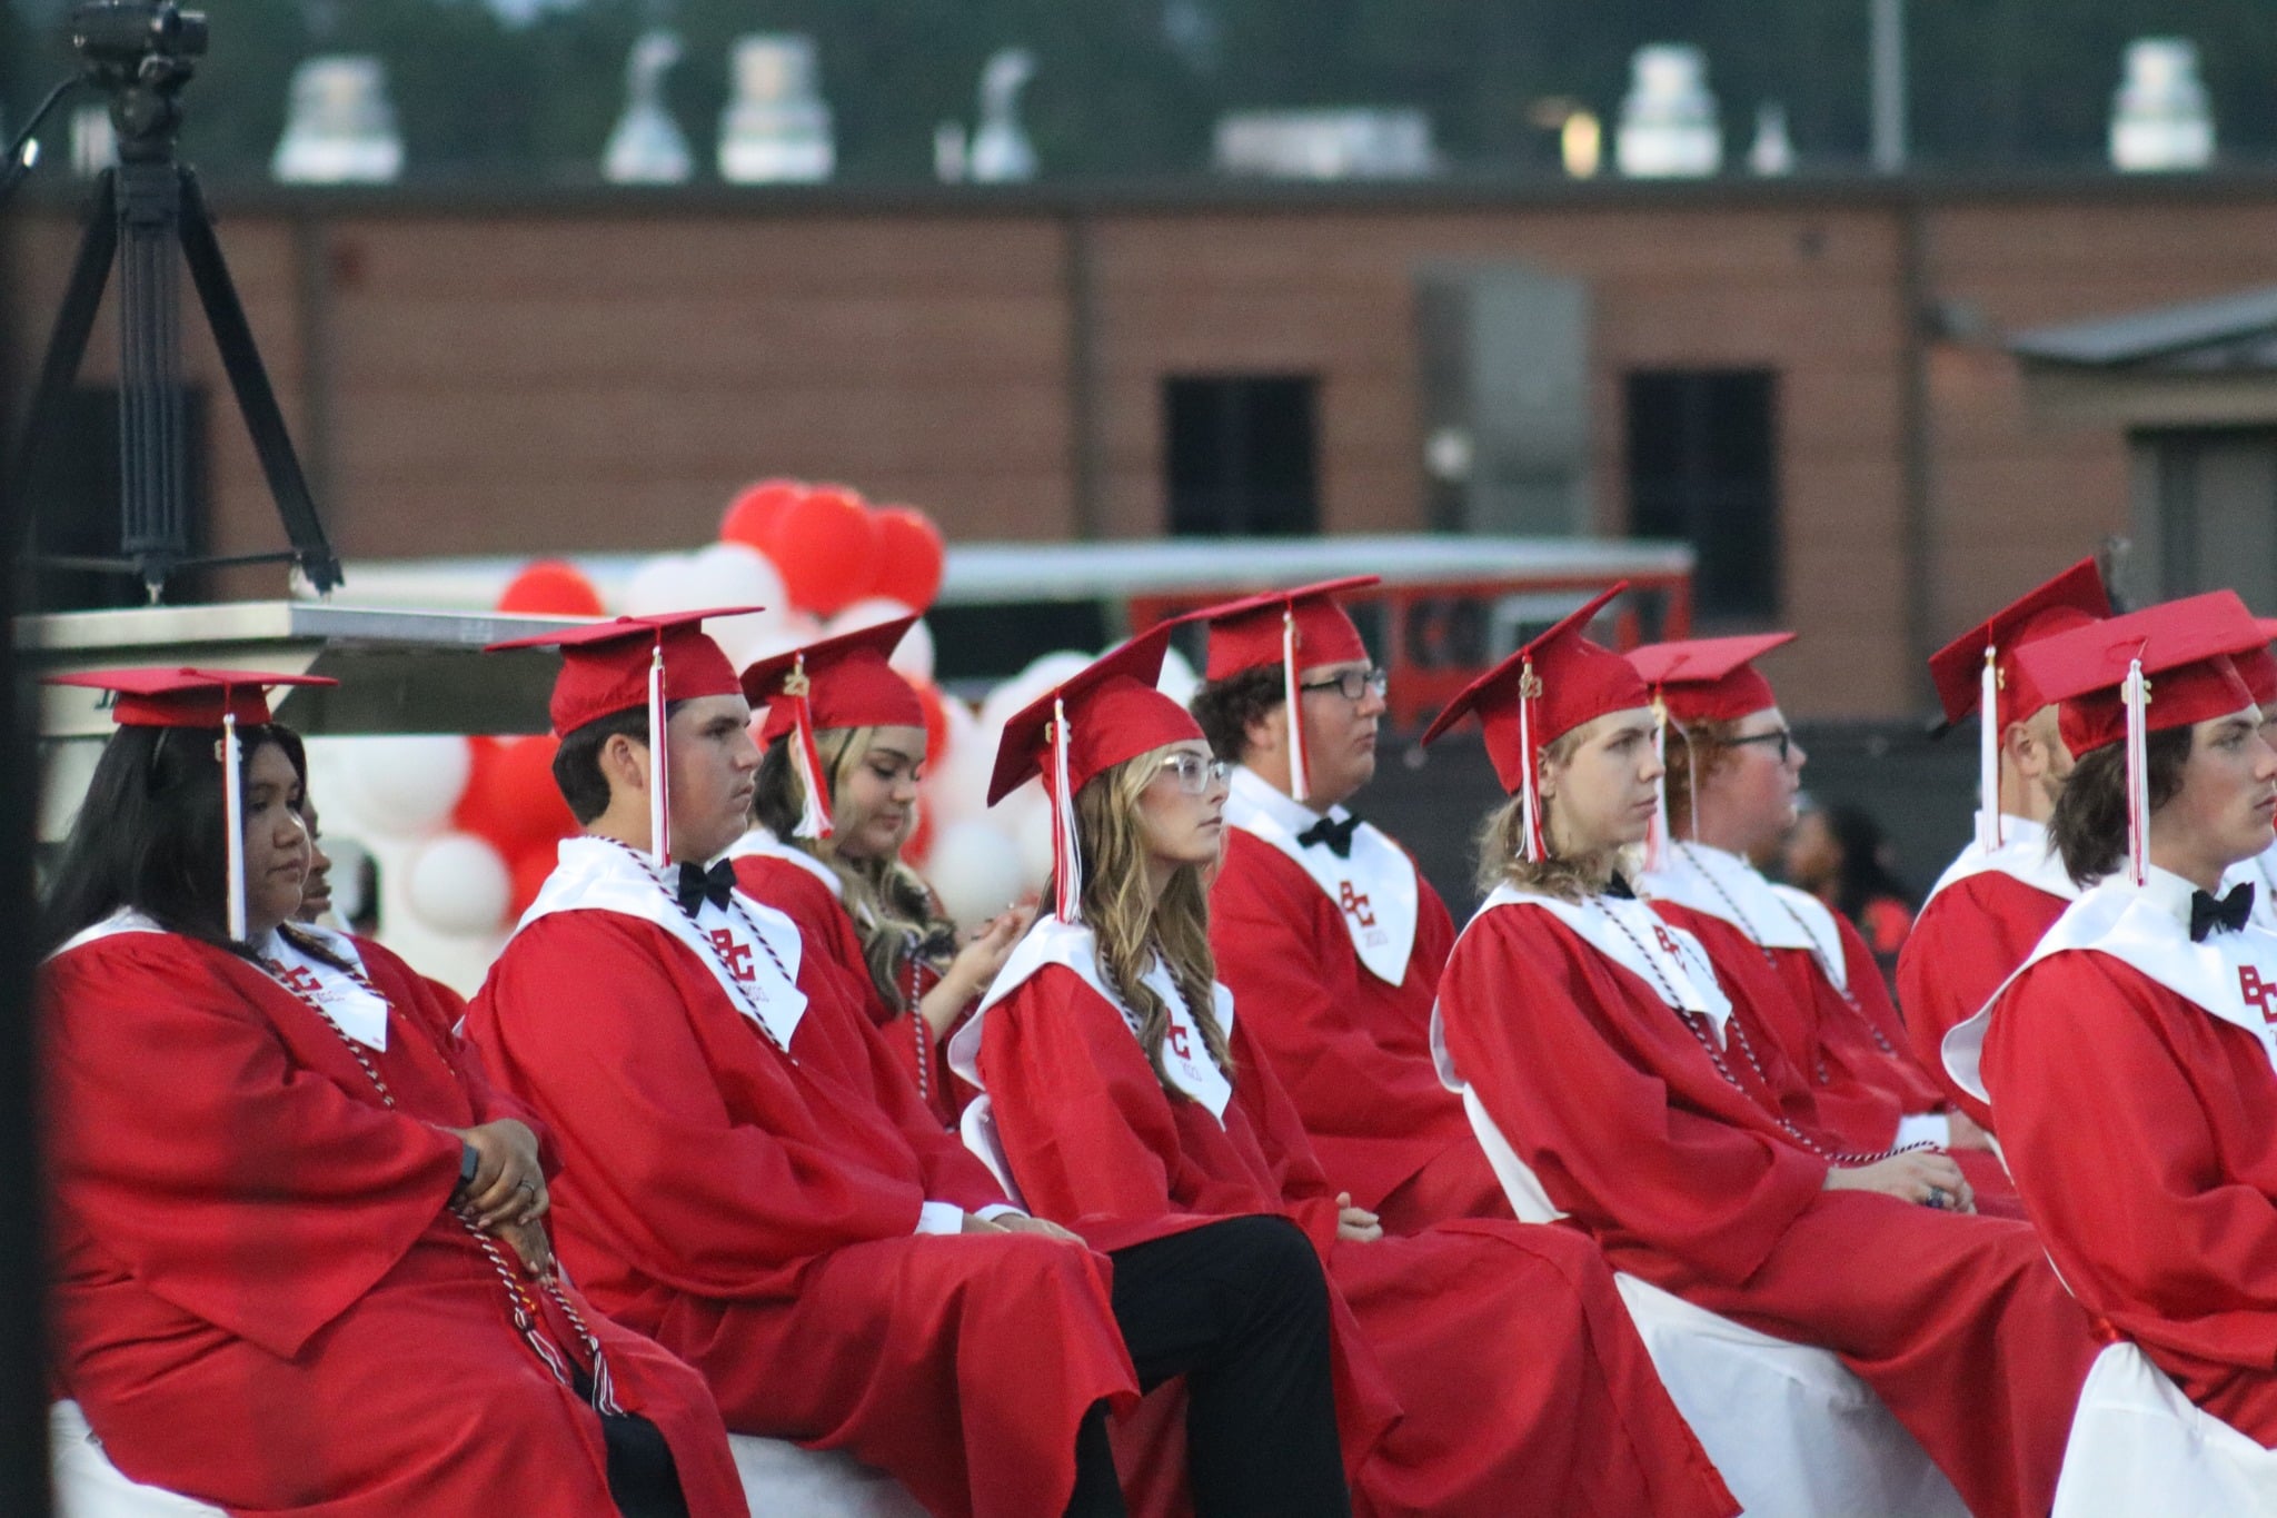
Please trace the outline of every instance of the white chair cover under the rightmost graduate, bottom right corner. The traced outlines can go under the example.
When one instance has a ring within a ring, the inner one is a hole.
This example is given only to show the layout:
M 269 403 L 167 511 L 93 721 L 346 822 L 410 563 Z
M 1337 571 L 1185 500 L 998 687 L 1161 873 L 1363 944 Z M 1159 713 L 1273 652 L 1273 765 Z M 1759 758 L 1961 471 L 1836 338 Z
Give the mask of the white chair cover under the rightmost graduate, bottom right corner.
M 2134 1343 L 2095 1356 L 2052 1518 L 2277 1513 L 2277 1450 L 2181 1395 Z

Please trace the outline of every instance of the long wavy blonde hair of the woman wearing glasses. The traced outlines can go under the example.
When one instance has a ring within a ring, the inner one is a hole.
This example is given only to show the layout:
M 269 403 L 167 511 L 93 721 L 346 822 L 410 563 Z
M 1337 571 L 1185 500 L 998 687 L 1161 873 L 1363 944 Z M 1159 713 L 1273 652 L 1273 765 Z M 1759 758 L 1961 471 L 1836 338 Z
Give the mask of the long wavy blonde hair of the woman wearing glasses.
M 1225 1042 L 1225 1029 L 1218 1026 L 1211 992 L 1218 960 L 1209 951 L 1209 890 L 1202 885 L 1202 867 L 1179 865 L 1170 872 L 1161 897 L 1148 904 L 1148 847 L 1138 797 L 1152 785 L 1164 753 L 1168 744 L 1086 781 L 1075 792 L 1075 831 L 1084 849 L 1084 926 L 1098 940 L 1100 974 L 1138 1017 L 1138 1047 L 1145 1049 L 1154 1079 L 1173 1102 L 1189 1102 L 1191 1097 L 1170 1081 L 1161 1063 L 1161 1045 L 1170 1036 L 1170 1008 L 1143 981 L 1157 956 L 1177 983 L 1177 997 L 1186 1004 L 1193 1026 L 1202 1031 L 1209 1058 L 1227 1076 L 1234 1074 L 1234 1054 Z M 1054 885 L 1045 885 L 1043 899 L 1050 901 L 1052 894 Z

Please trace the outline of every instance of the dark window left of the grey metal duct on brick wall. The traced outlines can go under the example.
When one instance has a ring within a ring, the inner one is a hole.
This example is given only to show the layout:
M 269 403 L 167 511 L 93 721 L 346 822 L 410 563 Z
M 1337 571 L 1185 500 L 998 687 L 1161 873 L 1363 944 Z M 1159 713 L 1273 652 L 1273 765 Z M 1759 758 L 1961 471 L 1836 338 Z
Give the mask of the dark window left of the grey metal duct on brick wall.
M 1305 376 L 1166 380 L 1170 533 L 1318 533 L 1318 389 Z

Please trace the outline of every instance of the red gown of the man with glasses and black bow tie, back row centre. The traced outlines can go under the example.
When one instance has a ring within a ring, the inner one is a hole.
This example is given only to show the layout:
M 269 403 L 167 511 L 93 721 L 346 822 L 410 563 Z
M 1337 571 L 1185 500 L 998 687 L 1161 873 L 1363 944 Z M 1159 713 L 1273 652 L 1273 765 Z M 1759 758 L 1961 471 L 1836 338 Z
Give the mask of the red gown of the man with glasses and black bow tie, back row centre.
M 1462 1097 L 1439 1083 L 1430 1006 L 1455 924 L 1430 881 L 1407 976 L 1391 985 L 1353 949 L 1343 908 L 1287 853 L 1227 828 L 1209 890 L 1209 947 L 1250 1042 L 1296 1102 L 1321 1168 L 1391 1234 L 1448 1218 L 1510 1218 Z

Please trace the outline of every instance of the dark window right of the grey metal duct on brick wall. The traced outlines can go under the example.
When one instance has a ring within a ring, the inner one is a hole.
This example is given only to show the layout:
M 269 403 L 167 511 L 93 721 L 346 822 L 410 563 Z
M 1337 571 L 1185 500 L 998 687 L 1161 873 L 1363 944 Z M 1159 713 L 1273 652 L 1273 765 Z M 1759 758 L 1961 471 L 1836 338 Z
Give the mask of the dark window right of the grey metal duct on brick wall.
M 1628 376 L 1628 530 L 1699 555 L 1701 617 L 1778 614 L 1778 376 Z

